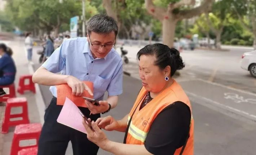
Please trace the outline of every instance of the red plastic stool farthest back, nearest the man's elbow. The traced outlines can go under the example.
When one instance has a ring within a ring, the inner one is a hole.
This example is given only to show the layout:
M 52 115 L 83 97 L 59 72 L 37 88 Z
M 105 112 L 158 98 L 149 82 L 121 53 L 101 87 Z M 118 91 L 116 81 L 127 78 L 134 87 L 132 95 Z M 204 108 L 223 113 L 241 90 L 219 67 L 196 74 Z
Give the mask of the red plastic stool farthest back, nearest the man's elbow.
M 29 84 L 25 85 L 25 80 L 29 80 Z M 18 93 L 24 94 L 24 90 L 30 90 L 33 93 L 36 93 L 35 84 L 32 81 L 32 75 L 23 75 L 19 77 L 19 88 Z

